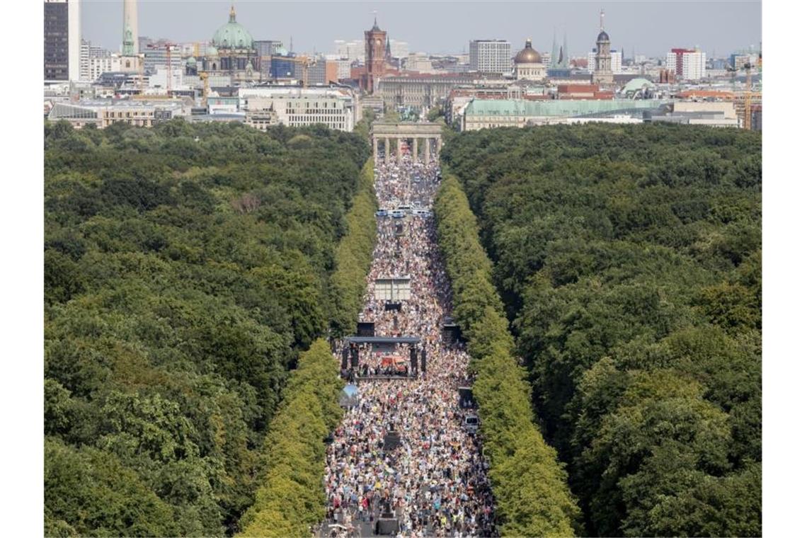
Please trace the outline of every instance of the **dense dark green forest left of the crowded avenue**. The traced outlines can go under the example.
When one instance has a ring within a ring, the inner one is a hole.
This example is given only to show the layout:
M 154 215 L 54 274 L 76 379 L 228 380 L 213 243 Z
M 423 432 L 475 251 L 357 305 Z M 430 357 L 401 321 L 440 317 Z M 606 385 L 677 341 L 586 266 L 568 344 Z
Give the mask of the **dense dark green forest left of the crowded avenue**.
M 272 441 L 305 444 L 288 415 L 332 425 L 312 343 L 369 153 L 324 127 L 45 126 L 46 535 L 238 532 Z

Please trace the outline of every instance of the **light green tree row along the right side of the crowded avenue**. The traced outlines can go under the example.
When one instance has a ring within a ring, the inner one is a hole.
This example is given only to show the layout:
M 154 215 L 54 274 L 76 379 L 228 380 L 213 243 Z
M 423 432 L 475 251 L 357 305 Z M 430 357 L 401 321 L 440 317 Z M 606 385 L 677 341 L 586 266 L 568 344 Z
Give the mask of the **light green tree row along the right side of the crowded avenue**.
M 457 179 L 444 174 L 435 200 L 437 236 L 454 292 L 454 317 L 468 340 L 488 477 L 504 536 L 571 536 L 579 508 L 557 454 L 533 423 L 529 384 L 514 355 L 491 262 Z

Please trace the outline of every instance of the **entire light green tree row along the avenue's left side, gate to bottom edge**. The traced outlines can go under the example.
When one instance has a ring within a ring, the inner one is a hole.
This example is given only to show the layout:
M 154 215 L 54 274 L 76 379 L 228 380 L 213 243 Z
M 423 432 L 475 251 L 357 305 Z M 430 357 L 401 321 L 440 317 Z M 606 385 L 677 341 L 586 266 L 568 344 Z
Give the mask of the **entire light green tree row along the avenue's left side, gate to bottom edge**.
M 359 175 L 335 252 L 330 280 L 332 334 L 351 334 L 361 311 L 375 246 L 373 159 Z M 324 438 L 341 419 L 339 363 L 324 340 L 304 352 L 283 391 L 280 410 L 264 443 L 266 471 L 256 501 L 241 518 L 244 536 L 306 536 L 324 520 Z

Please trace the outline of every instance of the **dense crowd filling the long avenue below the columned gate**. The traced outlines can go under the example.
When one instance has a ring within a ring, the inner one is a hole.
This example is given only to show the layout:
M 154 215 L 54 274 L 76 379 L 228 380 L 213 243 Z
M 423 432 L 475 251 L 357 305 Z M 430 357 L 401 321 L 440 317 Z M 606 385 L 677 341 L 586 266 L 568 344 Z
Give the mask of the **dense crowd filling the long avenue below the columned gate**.
M 378 165 L 380 206 L 429 209 L 439 168 L 413 163 Z M 403 222 L 402 222 L 403 221 Z M 330 536 L 368 536 L 379 519 L 396 519 L 396 536 L 495 536 L 494 502 L 487 461 L 478 436 L 463 426 L 473 414 L 466 386 L 468 356 L 462 344 L 444 341 L 450 284 L 441 262 L 433 216 L 378 217 L 378 240 L 367 277 L 364 322 L 375 336 L 416 336 L 427 369 L 401 379 L 362 379 L 328 446 L 324 487 Z M 401 224 L 400 226 L 396 226 Z M 396 229 L 397 227 L 397 229 Z M 376 299 L 378 278 L 410 278 L 410 295 L 399 310 Z M 408 352 L 398 352 L 409 358 Z M 366 350 L 362 369 L 374 368 L 384 352 Z M 338 353 L 337 353 L 338 357 Z M 391 432 L 399 444 L 385 444 Z

